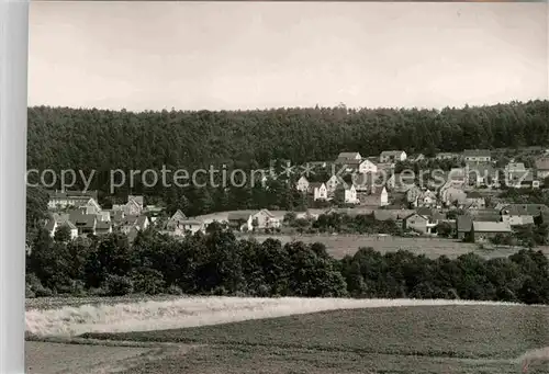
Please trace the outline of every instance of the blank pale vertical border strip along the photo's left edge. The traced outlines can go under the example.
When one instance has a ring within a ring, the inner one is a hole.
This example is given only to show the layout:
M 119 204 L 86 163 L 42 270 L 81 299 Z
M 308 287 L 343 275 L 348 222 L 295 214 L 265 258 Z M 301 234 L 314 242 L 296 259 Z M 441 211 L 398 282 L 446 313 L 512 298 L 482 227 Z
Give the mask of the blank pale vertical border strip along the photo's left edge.
M 25 372 L 29 1 L 0 0 L 0 373 Z

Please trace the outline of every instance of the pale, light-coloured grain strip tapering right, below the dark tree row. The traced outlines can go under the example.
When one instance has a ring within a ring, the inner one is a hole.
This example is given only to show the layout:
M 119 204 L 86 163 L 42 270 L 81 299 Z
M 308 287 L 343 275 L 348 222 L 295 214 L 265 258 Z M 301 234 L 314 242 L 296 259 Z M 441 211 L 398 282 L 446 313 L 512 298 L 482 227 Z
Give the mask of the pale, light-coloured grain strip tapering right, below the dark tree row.
M 217 325 L 248 319 L 282 317 L 322 310 L 374 308 L 410 305 L 485 305 L 482 302 L 344 298 L 251 298 L 251 297 L 179 297 L 164 301 L 139 301 L 97 304 L 97 298 L 76 298 L 79 305 L 26 310 L 27 335 L 37 337 L 74 337 L 85 332 L 124 332 L 175 329 Z M 504 305 L 504 304 L 498 304 Z

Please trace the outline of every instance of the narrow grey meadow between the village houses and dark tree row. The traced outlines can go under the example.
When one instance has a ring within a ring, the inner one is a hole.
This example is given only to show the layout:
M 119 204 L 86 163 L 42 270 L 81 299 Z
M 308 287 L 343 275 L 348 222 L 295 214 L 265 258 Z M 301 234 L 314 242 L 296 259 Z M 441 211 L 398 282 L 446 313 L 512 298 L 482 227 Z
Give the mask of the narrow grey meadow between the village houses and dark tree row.
M 457 258 L 469 252 L 478 253 L 483 258 L 508 257 L 518 249 L 502 247 L 494 250 L 481 250 L 474 243 L 460 242 L 451 239 L 441 238 L 402 238 L 402 237 L 378 237 L 367 235 L 243 235 L 244 237 L 254 237 L 258 241 L 267 238 L 280 240 L 282 243 L 290 241 L 322 242 L 326 246 L 328 253 L 336 259 L 341 259 L 346 254 L 354 254 L 360 247 L 372 247 L 381 253 L 406 249 L 416 254 L 425 254 L 429 258 L 447 256 Z M 549 248 L 539 248 L 549 256 Z

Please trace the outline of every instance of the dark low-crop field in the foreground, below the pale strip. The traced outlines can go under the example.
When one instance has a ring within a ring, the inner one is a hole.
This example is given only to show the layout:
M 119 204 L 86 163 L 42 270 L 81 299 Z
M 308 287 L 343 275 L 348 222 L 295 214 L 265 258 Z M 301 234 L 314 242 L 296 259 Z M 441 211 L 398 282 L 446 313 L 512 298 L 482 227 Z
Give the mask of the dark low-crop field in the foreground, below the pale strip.
M 549 341 L 546 307 L 415 306 L 332 310 L 88 338 L 208 344 L 127 373 L 518 373 Z M 547 373 L 533 364 L 529 373 Z

